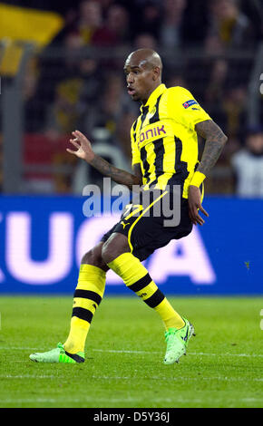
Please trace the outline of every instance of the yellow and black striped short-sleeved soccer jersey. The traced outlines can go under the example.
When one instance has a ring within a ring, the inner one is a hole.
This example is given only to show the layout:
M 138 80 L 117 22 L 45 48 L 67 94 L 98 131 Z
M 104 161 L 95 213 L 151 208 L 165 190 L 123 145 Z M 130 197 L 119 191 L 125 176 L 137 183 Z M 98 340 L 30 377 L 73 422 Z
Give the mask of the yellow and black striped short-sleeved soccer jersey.
M 188 198 L 198 163 L 195 125 L 206 120 L 211 120 L 209 114 L 180 86 L 160 84 L 151 93 L 131 129 L 132 165 L 141 164 L 145 190 L 180 184 Z

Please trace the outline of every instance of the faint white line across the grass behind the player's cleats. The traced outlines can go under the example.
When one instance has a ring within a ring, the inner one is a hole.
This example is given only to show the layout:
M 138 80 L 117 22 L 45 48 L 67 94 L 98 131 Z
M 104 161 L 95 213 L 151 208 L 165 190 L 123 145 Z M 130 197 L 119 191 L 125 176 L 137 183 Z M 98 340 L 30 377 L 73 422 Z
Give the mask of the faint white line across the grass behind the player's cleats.
M 43 352 L 46 351 L 44 348 L 32 348 L 32 347 L 5 347 L 0 346 L 0 351 L 37 351 L 37 352 Z M 160 351 L 128 351 L 128 350 L 115 350 L 115 349 L 92 349 L 93 352 L 105 352 L 105 353 L 142 353 L 142 354 L 161 354 Z M 240 356 L 240 357 L 252 357 L 252 358 L 262 358 L 262 353 L 203 353 L 203 352 L 188 352 L 188 355 L 194 355 L 194 356 Z

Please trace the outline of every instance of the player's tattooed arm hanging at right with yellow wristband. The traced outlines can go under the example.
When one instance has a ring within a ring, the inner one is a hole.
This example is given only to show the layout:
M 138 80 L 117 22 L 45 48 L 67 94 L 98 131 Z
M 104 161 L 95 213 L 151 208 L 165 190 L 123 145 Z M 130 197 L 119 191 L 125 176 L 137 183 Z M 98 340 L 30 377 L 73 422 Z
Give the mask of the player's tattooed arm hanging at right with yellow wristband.
M 200 185 L 198 182 L 199 179 L 203 180 L 208 175 L 209 170 L 219 160 L 219 155 L 228 138 L 212 120 L 199 122 L 196 124 L 195 130 L 206 141 L 200 164 L 196 170 L 198 173 L 196 176 L 194 175 L 189 187 L 189 214 L 194 225 L 203 225 L 204 220 L 199 215 L 199 209 L 205 216 L 208 217 L 209 214 L 201 205 Z

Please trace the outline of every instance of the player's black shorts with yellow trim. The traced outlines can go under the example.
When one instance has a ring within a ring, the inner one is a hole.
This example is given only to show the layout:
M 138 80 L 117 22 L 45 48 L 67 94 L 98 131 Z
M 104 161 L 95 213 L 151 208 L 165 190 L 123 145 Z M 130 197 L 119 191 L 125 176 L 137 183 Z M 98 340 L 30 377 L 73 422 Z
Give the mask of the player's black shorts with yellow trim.
M 120 221 L 102 237 L 105 242 L 114 232 L 125 235 L 128 237 L 132 254 L 141 261 L 157 248 L 166 246 L 171 239 L 186 237 L 192 230 L 186 198 L 174 198 L 171 192 L 147 192 L 147 199 L 142 197 L 141 193 L 133 197 L 131 203 L 123 209 Z M 176 226 L 167 226 L 167 223 L 164 223 L 171 218 L 168 217 L 164 206 L 169 206 L 173 212 L 177 209 L 179 216 Z

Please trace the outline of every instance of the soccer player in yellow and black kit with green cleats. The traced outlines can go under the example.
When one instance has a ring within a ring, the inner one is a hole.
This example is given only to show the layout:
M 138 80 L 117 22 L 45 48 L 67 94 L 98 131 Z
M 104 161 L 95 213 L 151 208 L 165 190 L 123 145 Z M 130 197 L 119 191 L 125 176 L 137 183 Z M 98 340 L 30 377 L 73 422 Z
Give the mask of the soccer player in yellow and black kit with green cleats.
M 131 53 L 124 64 L 128 93 L 133 101 L 141 102 L 141 115 L 131 130 L 134 174 L 117 169 L 94 154 L 91 142 L 83 133 L 73 131 L 71 143 L 75 150 L 67 149 L 68 152 L 129 189 L 133 185 L 142 187 L 138 200 L 126 206 L 119 223 L 83 256 L 66 342 L 51 351 L 31 354 L 30 359 L 35 362 L 84 362 L 86 336 L 102 301 L 110 268 L 160 315 L 167 343 L 164 363 L 178 362 L 186 353 L 194 333 L 193 325 L 174 310 L 141 261 L 171 239 L 190 234 L 192 224 L 203 225 L 200 212 L 209 215 L 201 205 L 201 187 L 209 169 L 219 159 L 227 137 L 188 90 L 167 89 L 161 83 L 161 70 L 161 58 L 151 49 Z M 205 139 L 200 162 L 198 135 Z M 180 186 L 178 205 L 173 198 L 175 185 Z M 145 205 L 141 195 L 157 190 L 159 196 L 149 198 Z M 173 227 L 164 226 L 162 214 L 152 213 L 158 203 L 164 205 L 167 200 L 171 210 L 180 208 L 180 223 Z

